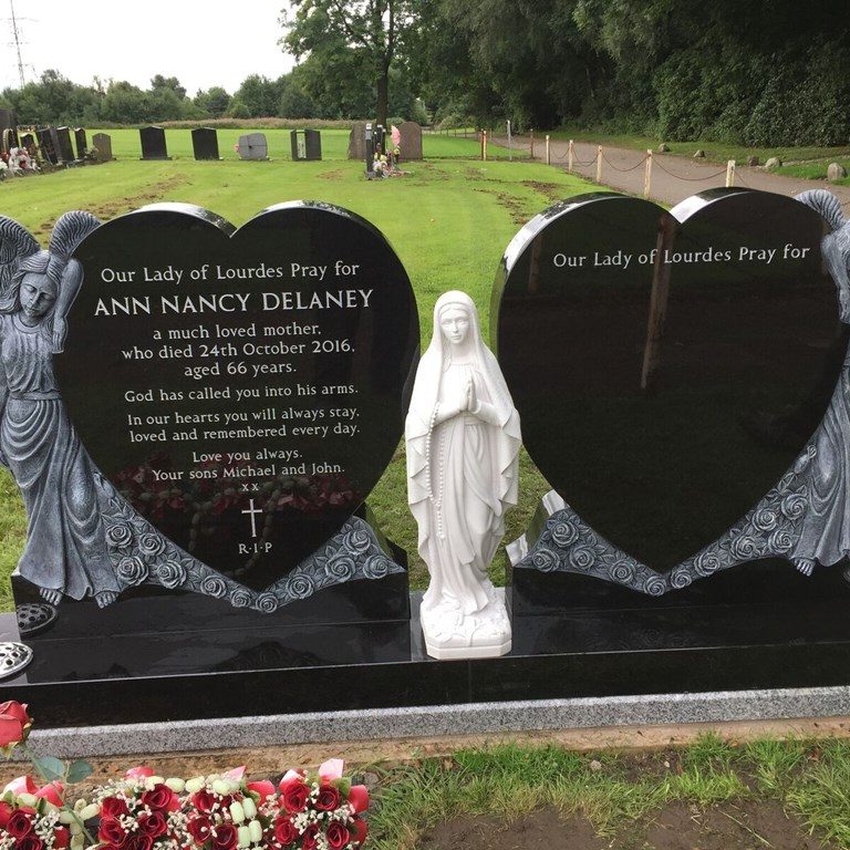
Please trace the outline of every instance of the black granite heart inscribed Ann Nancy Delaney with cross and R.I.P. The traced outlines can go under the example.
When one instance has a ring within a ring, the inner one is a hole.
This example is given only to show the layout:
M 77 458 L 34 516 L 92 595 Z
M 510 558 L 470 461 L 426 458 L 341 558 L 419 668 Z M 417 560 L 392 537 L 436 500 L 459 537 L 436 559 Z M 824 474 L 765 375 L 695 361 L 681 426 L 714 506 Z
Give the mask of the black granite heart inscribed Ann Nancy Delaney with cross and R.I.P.
M 340 529 L 398 443 L 418 349 L 398 258 L 319 203 L 238 230 L 155 205 L 75 256 L 84 282 L 55 361 L 83 445 L 165 537 L 262 590 Z

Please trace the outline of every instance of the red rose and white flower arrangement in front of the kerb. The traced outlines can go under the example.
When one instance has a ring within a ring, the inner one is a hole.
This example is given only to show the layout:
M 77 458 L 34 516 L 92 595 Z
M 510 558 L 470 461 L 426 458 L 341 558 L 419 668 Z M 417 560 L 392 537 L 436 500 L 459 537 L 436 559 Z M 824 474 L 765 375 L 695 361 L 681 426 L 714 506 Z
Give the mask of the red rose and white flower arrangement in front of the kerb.
M 0 792 L 0 850 L 360 850 L 366 840 L 369 791 L 343 776 L 342 759 L 290 770 L 277 787 L 247 781 L 243 767 L 188 781 L 134 767 L 72 808 L 64 784 L 92 767 L 34 756 L 31 726 L 25 705 L 0 703 L 0 751 L 20 747 L 46 780 L 22 776 Z

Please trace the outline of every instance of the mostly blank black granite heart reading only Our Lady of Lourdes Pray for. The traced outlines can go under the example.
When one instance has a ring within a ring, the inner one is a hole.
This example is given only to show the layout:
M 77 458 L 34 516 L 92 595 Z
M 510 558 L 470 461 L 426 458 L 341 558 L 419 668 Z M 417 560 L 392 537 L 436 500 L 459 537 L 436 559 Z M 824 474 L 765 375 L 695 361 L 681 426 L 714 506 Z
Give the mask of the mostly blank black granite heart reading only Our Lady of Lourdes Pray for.
M 532 459 L 659 571 L 780 479 L 846 349 L 813 209 L 718 190 L 674 212 L 618 195 L 552 207 L 508 248 L 491 309 Z

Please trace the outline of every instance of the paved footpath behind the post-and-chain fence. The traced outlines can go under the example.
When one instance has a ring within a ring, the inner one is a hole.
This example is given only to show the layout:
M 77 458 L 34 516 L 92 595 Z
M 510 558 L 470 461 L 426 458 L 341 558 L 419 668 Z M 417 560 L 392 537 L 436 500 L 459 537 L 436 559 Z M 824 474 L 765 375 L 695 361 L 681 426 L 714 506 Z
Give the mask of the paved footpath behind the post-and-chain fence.
M 507 146 L 507 138 L 494 138 L 493 142 Z M 552 165 L 567 167 L 569 142 L 552 139 L 550 143 Z M 528 152 L 528 136 L 514 136 L 514 149 Z M 592 142 L 576 142 L 573 144 L 573 172 L 597 178 L 597 145 Z M 623 147 L 602 146 L 602 183 L 618 191 L 643 196 L 645 151 L 632 151 Z M 546 139 L 535 138 L 535 158 L 546 162 Z M 650 197 L 671 206 L 678 204 L 691 195 L 705 189 L 726 185 L 726 166 L 704 159 L 688 159 L 684 156 L 653 153 L 652 190 Z M 807 189 L 826 188 L 838 196 L 844 207 L 844 214 L 850 215 L 850 186 L 836 186 L 827 180 L 802 180 L 795 177 L 782 177 L 770 174 L 761 168 L 750 168 L 738 165 L 735 185 L 764 191 L 775 191 L 779 195 L 799 195 Z

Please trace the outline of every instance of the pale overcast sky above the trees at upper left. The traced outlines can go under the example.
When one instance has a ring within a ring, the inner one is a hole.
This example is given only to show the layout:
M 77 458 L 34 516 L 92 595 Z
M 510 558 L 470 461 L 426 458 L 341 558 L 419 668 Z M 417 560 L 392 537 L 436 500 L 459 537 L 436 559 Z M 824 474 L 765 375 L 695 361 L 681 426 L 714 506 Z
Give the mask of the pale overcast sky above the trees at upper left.
M 270 79 L 294 61 L 277 44 L 284 0 L 12 0 L 24 77 L 53 68 L 75 83 L 176 76 L 189 96 L 222 85 L 232 94 L 248 74 Z M 10 0 L 0 0 L 0 89 L 18 87 Z

